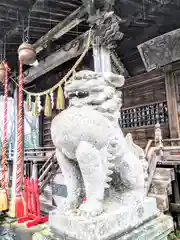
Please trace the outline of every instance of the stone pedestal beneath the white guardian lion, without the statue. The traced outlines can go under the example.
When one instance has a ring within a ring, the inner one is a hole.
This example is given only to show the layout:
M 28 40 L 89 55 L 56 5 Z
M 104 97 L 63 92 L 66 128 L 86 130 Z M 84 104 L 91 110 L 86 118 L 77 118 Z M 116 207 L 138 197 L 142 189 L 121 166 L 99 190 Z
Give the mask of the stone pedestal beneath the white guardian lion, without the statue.
M 94 218 L 53 211 L 49 225 L 59 240 L 165 240 L 173 230 L 172 218 L 159 214 L 154 198 L 131 209 L 113 202 Z

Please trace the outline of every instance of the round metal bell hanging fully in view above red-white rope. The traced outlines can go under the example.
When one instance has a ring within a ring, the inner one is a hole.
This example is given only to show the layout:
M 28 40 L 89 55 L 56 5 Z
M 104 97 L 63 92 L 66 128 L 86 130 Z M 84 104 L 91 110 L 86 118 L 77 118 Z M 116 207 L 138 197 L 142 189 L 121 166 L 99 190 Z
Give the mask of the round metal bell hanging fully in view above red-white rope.
M 36 61 L 36 51 L 33 45 L 22 43 L 18 48 L 19 61 L 25 65 L 31 65 Z

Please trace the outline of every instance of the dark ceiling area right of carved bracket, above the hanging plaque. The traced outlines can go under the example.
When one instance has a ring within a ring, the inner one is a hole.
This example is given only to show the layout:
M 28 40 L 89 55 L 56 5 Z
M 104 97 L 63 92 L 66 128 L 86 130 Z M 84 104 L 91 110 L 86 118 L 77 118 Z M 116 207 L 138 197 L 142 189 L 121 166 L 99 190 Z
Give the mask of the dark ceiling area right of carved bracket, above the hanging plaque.
M 137 45 L 180 28 L 179 0 L 116 0 L 124 38 L 116 49 L 131 76 L 145 72 Z

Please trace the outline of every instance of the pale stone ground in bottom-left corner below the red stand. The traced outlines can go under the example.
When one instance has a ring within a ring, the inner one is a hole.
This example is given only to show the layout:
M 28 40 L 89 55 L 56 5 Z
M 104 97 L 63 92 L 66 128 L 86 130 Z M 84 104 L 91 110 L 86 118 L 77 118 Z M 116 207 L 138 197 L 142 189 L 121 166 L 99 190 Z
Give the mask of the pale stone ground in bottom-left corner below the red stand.
M 47 224 L 26 228 L 15 219 L 0 216 L 0 240 L 54 240 Z

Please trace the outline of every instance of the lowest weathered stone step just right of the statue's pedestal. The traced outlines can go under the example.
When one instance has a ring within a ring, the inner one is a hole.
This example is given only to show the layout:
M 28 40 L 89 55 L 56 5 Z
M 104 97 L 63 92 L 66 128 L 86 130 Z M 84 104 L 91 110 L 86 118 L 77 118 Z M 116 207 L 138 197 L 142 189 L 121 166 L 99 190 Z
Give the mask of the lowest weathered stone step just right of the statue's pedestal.
M 149 193 L 148 197 L 156 198 L 157 207 L 160 212 L 168 211 L 169 209 L 169 199 L 167 195 L 158 195 L 154 193 Z

